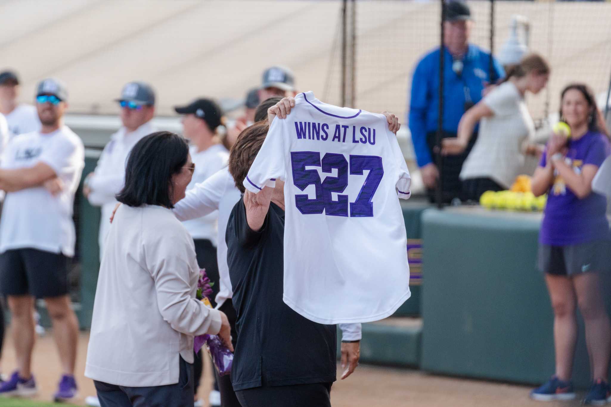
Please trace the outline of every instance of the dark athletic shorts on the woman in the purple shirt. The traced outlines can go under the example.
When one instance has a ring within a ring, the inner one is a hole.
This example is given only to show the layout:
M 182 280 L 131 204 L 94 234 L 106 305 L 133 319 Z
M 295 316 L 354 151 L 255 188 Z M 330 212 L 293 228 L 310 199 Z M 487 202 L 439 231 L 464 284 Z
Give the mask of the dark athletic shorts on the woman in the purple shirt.
M 611 267 L 610 253 L 609 240 L 594 240 L 567 246 L 540 243 L 537 264 L 541 272 L 557 276 L 606 272 Z

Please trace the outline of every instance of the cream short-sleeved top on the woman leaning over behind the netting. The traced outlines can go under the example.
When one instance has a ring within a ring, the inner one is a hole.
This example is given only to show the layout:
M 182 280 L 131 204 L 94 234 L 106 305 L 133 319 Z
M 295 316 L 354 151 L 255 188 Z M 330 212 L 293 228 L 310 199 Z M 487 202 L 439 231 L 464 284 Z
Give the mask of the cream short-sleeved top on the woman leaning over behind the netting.
M 481 119 L 477 141 L 463 164 L 460 178 L 491 178 L 509 189 L 524 167 L 522 143 L 535 134 L 535 123 L 524 97 L 512 82 L 493 89 L 482 103 L 494 116 Z

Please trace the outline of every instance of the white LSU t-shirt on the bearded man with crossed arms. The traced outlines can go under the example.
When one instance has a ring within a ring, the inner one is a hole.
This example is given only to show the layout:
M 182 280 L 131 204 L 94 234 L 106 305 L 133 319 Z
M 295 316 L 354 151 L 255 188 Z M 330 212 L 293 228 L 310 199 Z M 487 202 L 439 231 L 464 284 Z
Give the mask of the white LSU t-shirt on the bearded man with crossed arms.
M 67 126 L 54 132 L 38 131 L 13 137 L 2 154 L 0 168 L 16 170 L 44 162 L 64 182 L 56 196 L 44 187 L 6 194 L 0 218 L 0 253 L 35 248 L 71 257 L 75 253 L 72 220 L 76 189 L 85 165 L 81 139 Z

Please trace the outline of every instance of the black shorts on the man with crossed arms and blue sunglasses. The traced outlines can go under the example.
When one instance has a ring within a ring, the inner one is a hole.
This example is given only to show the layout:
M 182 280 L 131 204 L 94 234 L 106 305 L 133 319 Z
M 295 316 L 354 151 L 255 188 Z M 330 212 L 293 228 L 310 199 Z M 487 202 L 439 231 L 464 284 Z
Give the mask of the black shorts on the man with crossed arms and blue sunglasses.
M 0 254 L 0 292 L 36 298 L 68 294 L 68 261 L 61 253 L 23 248 Z

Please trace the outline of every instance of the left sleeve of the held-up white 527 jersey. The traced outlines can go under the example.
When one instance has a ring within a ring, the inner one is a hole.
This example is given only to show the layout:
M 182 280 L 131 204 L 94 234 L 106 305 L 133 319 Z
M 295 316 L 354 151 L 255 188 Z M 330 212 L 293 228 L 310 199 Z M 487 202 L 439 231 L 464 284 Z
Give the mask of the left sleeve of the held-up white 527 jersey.
M 276 179 L 284 181 L 284 129 L 287 119 L 275 118 L 269 126 L 265 141 L 257 157 L 252 162 L 246 178 L 244 188 L 257 193 L 264 187 L 274 187 Z

